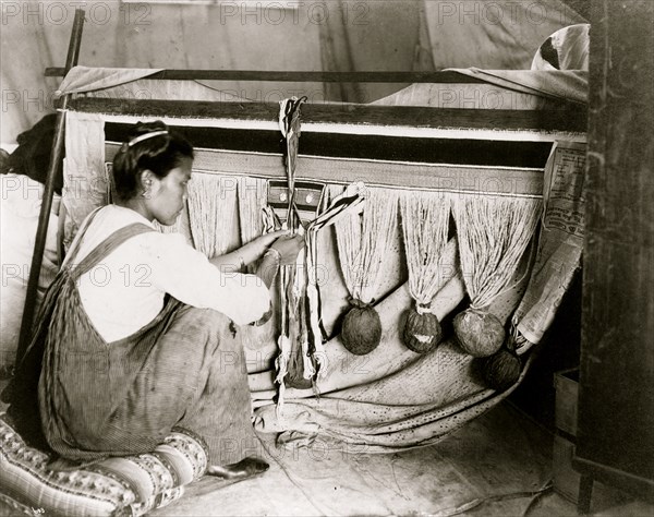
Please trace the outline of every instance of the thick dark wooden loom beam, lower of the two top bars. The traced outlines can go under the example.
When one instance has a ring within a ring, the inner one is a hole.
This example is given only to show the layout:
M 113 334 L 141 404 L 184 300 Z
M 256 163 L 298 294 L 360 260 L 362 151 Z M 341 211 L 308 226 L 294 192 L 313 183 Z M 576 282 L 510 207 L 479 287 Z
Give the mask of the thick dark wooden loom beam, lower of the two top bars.
M 149 118 L 192 118 L 270 122 L 277 127 L 278 103 L 215 103 L 203 100 L 143 100 L 81 97 L 72 108 L 77 111 Z M 567 106 L 552 110 L 452 109 L 423 106 L 371 106 L 356 104 L 305 104 L 302 106 L 303 131 L 311 124 L 340 127 L 408 128 L 584 133 L 586 109 Z M 269 129 L 269 128 L 258 128 Z M 328 131 L 326 131 L 328 132 Z M 334 130 L 331 132 L 339 132 Z M 491 139 L 493 140 L 493 139 Z

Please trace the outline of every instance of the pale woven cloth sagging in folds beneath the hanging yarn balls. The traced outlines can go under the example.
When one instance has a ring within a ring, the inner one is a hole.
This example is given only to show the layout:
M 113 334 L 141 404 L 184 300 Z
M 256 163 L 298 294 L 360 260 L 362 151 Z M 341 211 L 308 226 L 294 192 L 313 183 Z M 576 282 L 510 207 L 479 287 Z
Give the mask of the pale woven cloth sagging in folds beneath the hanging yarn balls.
M 397 275 L 396 270 L 390 276 Z M 505 292 L 491 312 L 506 322 L 522 292 Z M 323 293 L 327 298 L 331 291 L 324 289 Z M 432 312 L 446 320 L 463 299 L 459 272 L 436 294 Z M 408 350 L 400 329 L 411 305 L 407 285 L 391 289 L 375 305 L 382 320 L 382 342 L 367 356 L 352 356 L 338 336 L 325 344 L 328 366 L 325 380 L 317 384 L 319 397 L 311 389 L 287 389 L 281 418 L 272 404 L 270 373 L 251 374 L 258 408 L 255 429 L 281 433 L 280 443 L 311 443 L 330 436 L 341 444 L 364 446 L 368 453 L 384 453 L 435 443 L 510 394 L 512 389 L 497 393 L 486 388 L 477 362 L 453 339 L 426 354 Z M 526 368 L 523 375 L 525 372 Z

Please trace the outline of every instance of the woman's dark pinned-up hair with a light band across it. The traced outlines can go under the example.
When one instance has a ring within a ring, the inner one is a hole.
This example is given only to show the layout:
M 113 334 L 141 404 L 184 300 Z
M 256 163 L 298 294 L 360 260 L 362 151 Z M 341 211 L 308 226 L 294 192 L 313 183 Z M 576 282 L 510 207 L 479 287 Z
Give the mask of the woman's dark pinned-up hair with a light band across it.
M 141 172 L 152 170 L 166 178 L 184 158 L 193 158 L 193 146 L 186 139 L 160 120 L 138 122 L 113 158 L 116 195 L 121 200 L 135 197 L 142 189 Z

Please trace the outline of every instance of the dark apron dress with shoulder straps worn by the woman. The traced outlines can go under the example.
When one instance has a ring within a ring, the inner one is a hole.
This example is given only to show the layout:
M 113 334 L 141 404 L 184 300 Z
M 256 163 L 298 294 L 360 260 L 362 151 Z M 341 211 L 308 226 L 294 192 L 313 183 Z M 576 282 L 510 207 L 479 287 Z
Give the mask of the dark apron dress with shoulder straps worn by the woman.
M 106 342 L 84 311 L 80 276 L 145 231 L 154 230 L 124 227 L 78 264 L 71 250 L 5 396 L 8 413 L 33 444 L 81 462 L 149 452 L 173 428 L 203 438 L 210 465 L 256 455 L 242 333 L 231 320 L 167 297 L 149 324 Z

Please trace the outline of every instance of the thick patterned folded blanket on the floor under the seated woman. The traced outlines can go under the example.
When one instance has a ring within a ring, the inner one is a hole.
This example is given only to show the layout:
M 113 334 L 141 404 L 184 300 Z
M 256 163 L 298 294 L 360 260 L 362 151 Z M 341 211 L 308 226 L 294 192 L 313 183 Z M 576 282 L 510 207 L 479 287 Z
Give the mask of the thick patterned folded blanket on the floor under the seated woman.
M 78 470 L 51 470 L 49 461 L 0 414 L 0 501 L 27 515 L 144 515 L 180 498 L 184 485 L 206 471 L 207 452 L 197 437 L 180 431 L 152 453 Z

